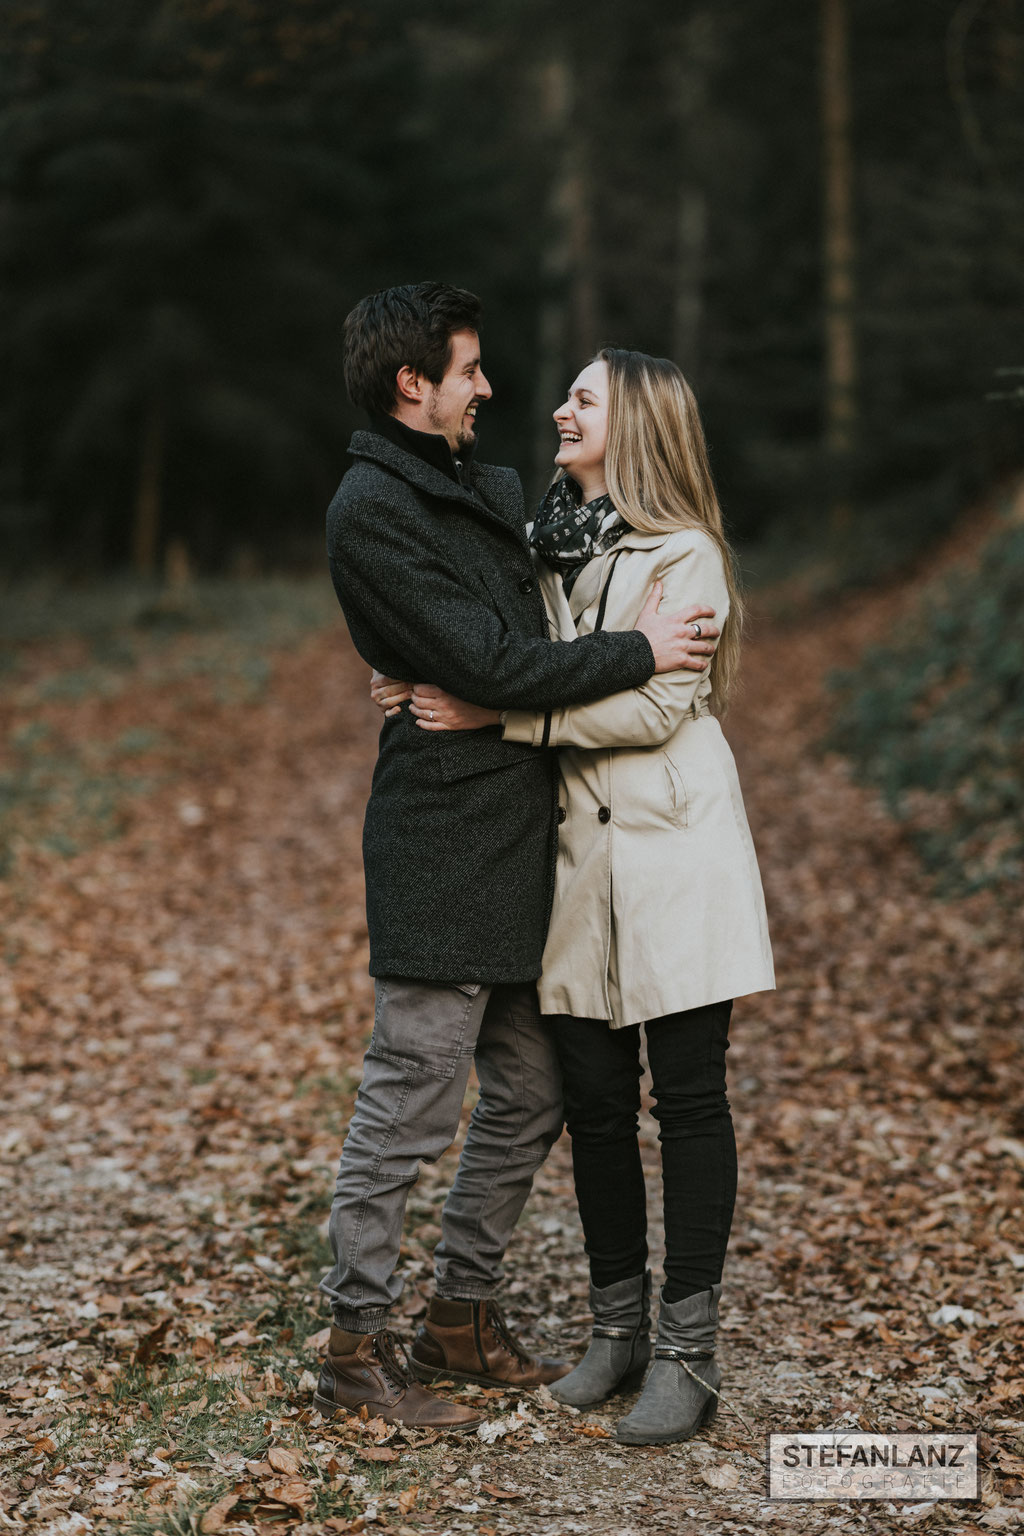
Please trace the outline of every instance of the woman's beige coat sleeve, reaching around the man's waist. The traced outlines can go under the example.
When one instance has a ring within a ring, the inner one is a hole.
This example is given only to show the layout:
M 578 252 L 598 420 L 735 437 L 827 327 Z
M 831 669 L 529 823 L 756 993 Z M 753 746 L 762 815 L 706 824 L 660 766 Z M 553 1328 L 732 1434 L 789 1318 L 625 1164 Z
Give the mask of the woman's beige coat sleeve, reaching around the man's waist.
M 706 602 L 715 610 L 715 624 L 722 628 L 729 613 L 729 588 L 722 554 L 711 539 L 680 536 L 666 544 L 651 581 L 665 584 L 662 607 L 666 613 L 691 602 Z M 594 703 L 553 710 L 547 742 L 550 746 L 657 746 L 674 734 L 706 676 L 706 671 L 686 668 L 659 673 L 640 688 Z M 505 740 L 540 746 L 545 720 L 540 713 L 510 710 Z

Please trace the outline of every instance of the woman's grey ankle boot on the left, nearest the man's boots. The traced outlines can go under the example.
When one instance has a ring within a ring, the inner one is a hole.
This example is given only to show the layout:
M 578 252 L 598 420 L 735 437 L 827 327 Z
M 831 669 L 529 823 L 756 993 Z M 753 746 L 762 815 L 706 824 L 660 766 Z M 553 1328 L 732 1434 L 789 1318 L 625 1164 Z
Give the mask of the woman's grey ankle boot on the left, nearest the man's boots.
M 590 1287 L 594 1332 L 579 1366 L 550 1392 L 559 1402 L 588 1409 L 613 1392 L 639 1385 L 651 1358 L 651 1270 L 599 1290 Z

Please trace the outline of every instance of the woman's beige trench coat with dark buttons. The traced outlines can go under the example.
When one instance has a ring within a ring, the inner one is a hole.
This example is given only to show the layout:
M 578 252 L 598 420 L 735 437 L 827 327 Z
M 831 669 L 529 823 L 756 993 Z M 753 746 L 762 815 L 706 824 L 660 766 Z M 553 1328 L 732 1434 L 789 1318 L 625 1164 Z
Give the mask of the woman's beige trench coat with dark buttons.
M 614 565 L 614 570 L 613 570 Z M 665 584 L 663 610 L 728 613 L 722 556 L 695 528 L 626 533 L 577 578 L 537 564 L 551 634 L 629 630 Z M 539 982 L 545 1014 L 613 1028 L 774 988 L 765 897 L 740 782 L 709 713 L 711 679 L 676 671 L 556 710 L 562 808 L 554 909 Z M 505 736 L 540 745 L 545 716 L 510 711 Z

